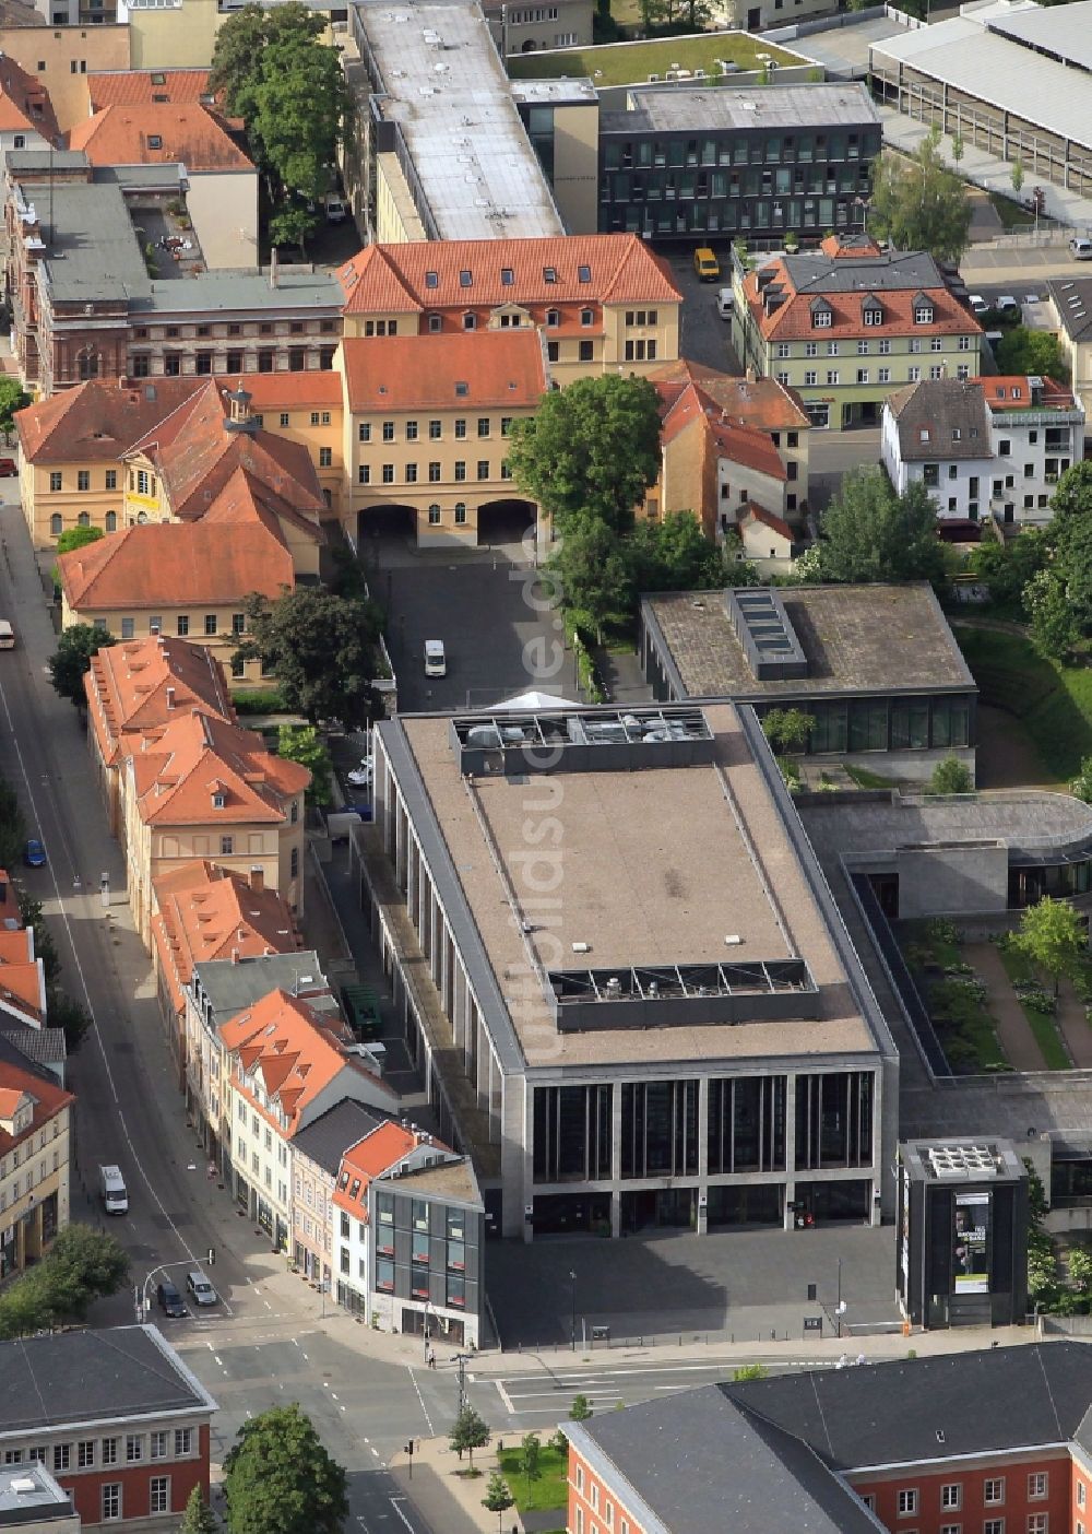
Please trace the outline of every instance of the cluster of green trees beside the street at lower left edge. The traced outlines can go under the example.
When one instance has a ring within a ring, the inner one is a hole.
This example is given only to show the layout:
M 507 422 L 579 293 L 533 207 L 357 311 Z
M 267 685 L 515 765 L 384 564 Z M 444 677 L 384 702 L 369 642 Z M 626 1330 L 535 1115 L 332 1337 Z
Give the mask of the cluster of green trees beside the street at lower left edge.
M 112 1235 L 66 1226 L 35 1267 L 0 1290 L 0 1338 L 83 1322 L 92 1301 L 117 1295 L 127 1276 L 129 1258 Z

